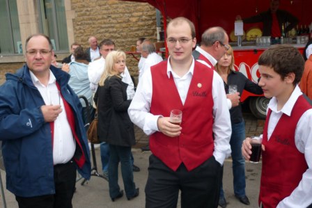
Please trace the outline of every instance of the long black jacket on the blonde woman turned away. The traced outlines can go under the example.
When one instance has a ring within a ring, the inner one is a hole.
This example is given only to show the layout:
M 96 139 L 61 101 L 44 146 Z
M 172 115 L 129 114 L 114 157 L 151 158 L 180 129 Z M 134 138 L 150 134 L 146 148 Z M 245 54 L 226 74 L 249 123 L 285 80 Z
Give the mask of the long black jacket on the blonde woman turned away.
M 99 86 L 95 94 L 98 102 L 98 136 L 100 141 L 111 145 L 130 147 L 135 145 L 134 125 L 127 109 L 131 100 L 127 100 L 127 83 L 120 77 L 112 76 Z

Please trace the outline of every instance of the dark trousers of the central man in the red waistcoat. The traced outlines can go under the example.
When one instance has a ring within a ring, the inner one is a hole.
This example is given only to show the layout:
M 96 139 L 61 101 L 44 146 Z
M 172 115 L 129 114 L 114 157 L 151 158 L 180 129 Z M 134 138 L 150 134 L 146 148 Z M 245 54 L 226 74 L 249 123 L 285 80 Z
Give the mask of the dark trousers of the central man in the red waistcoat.
M 182 208 L 218 207 L 220 182 L 221 165 L 214 157 L 194 170 L 188 171 L 182 163 L 173 171 L 152 154 L 145 188 L 146 208 L 176 208 L 179 190 Z

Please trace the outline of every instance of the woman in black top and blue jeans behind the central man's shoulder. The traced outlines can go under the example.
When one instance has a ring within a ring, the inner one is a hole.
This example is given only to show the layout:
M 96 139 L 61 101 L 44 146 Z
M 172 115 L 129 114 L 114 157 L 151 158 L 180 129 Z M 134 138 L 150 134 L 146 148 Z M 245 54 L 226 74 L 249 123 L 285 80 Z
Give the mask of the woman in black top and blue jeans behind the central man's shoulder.
M 247 79 L 241 72 L 237 72 L 234 69 L 234 55 L 233 48 L 230 47 L 226 54 L 220 58 L 216 67 L 216 71 L 224 81 L 224 88 L 226 94 L 228 94 L 228 86 L 236 85 L 237 92 L 242 95 L 243 90 L 247 90 L 250 93 L 256 95 L 263 94 L 263 90 L 253 81 Z M 233 186 L 235 196 L 240 202 L 245 205 L 249 205 L 249 199 L 245 193 L 246 181 L 245 181 L 245 160 L 242 157 L 242 141 L 245 138 L 245 126 L 244 119 L 242 118 L 242 106 L 238 104 L 231 108 L 231 125 L 232 135 L 230 140 L 231 156 L 233 159 Z M 226 207 L 226 200 L 224 198 L 224 191 L 220 189 L 219 205 Z

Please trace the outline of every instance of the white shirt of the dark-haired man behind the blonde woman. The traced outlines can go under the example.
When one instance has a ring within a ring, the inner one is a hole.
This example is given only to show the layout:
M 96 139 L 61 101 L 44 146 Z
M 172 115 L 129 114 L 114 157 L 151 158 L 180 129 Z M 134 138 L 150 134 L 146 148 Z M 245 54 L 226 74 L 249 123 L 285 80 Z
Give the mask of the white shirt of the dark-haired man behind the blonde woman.
M 90 88 L 93 91 L 93 93 L 96 92 L 98 89 L 98 83 L 100 81 L 100 78 L 104 72 L 104 66 L 105 66 L 105 59 L 103 56 L 101 56 L 100 59 L 95 60 L 88 65 L 88 78 L 90 80 Z M 120 74 L 123 79 L 121 79 L 124 83 L 127 83 L 127 96 L 133 97 L 134 96 L 134 83 L 131 79 L 129 70 L 127 67 L 125 67 L 125 72 Z

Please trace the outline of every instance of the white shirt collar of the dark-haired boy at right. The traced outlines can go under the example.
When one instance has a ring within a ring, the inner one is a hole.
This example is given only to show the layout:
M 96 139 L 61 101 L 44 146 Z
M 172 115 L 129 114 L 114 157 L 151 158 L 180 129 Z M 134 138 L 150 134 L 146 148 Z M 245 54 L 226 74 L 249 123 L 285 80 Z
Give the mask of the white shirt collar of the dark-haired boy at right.
M 285 113 L 286 115 L 290 116 L 291 115 L 291 111 L 295 105 L 295 103 L 297 102 L 298 97 L 302 95 L 302 92 L 299 88 L 299 86 L 296 86 L 295 89 L 292 91 L 292 94 L 290 95 L 288 101 L 286 102 L 286 104 L 284 104 L 283 108 L 281 109 L 281 113 Z M 276 97 L 272 97 L 268 108 L 270 108 L 273 112 L 275 113 L 279 113 L 279 111 L 277 111 L 277 100 Z

